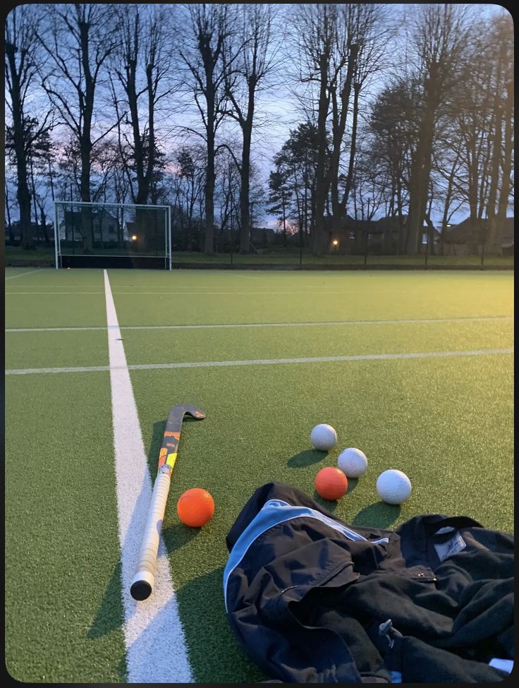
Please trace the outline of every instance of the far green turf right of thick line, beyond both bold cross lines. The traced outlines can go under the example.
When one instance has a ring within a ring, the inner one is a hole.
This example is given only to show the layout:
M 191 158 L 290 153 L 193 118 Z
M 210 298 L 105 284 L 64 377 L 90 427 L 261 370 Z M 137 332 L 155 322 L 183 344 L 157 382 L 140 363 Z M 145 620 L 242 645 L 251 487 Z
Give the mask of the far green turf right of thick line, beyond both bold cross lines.
M 121 325 L 513 315 L 502 273 L 110 274 Z

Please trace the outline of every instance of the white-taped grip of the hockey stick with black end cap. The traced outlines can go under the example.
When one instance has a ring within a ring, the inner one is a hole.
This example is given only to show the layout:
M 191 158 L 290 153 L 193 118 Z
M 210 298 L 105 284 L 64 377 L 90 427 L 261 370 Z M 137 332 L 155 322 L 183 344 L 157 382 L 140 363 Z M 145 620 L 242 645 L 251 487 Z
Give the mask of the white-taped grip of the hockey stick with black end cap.
M 135 600 L 145 600 L 153 590 L 157 569 L 157 552 L 159 551 L 160 533 L 168 500 L 169 485 L 171 485 L 170 469 L 169 466 L 164 466 L 155 478 L 152 502 L 149 505 L 148 520 L 142 538 L 138 564 L 130 586 L 130 594 Z

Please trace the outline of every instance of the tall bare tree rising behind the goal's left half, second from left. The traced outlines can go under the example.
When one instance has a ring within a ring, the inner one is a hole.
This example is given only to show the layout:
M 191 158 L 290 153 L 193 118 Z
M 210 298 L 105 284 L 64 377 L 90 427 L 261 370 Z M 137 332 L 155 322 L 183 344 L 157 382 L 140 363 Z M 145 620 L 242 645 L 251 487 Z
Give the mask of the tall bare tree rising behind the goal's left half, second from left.
M 102 70 L 116 47 L 114 8 L 83 3 L 48 7 L 46 30 L 38 34 L 48 58 L 42 65 L 42 83 L 62 123 L 78 142 L 80 198 L 88 202 L 92 149 L 117 126 L 117 122 L 103 126 L 99 111 L 94 110 Z M 85 248 L 90 249 L 91 212 L 85 210 L 82 218 Z

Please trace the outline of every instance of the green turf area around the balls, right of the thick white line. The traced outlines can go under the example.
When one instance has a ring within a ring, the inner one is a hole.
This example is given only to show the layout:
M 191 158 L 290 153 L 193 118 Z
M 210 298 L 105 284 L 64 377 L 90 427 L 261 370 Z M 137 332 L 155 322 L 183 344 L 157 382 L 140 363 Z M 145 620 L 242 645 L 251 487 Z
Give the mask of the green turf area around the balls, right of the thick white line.
M 157 418 L 170 404 L 206 412 L 186 424 L 164 520 L 181 620 L 197 682 L 254 681 L 226 627 L 221 576 L 225 536 L 255 488 L 269 481 L 316 497 L 315 473 L 341 449 L 359 447 L 369 469 L 329 507 L 349 524 L 393 529 L 416 514 L 465 514 L 489 528 L 513 529 L 511 356 L 435 361 L 355 361 L 208 369 L 134 371 L 144 428 L 155 426 L 150 469 L 159 448 Z M 312 450 L 312 427 L 331 423 L 338 445 Z M 379 501 L 381 471 L 404 471 L 413 493 L 401 507 Z M 212 493 L 212 521 L 194 533 L 174 505 L 191 487 Z M 208 632 L 216 627 L 218 632 Z

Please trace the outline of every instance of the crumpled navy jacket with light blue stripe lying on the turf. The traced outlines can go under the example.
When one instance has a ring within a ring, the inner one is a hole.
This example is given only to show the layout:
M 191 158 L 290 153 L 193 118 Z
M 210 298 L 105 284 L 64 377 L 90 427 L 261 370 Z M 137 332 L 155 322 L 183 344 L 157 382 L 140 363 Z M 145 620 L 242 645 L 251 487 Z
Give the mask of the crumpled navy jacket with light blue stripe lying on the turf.
M 258 488 L 226 538 L 228 620 L 274 682 L 496 682 L 513 659 L 513 538 L 466 517 L 348 526 Z M 492 661 L 494 664 L 494 662 Z

